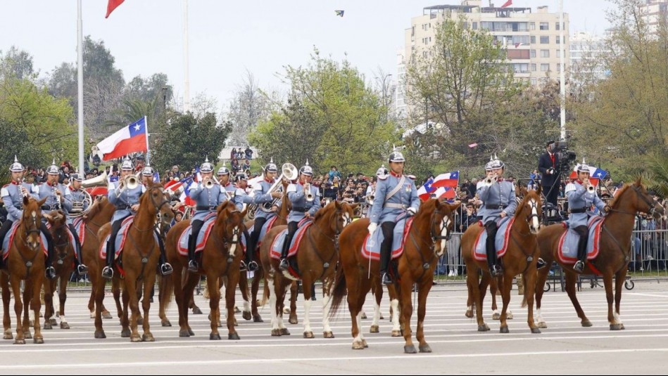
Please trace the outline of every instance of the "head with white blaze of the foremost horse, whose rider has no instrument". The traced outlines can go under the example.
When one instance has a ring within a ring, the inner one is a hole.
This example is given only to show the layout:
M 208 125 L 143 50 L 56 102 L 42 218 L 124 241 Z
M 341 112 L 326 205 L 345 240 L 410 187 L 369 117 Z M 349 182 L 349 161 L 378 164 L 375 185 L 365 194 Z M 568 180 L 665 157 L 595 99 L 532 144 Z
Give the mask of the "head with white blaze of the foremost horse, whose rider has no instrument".
M 429 199 L 420 205 L 420 210 L 415 214 L 413 226 L 429 226 L 429 238 L 434 245 L 434 255 L 441 257 L 446 253 L 447 242 L 453 235 L 455 229 L 455 211 L 462 205 L 457 201 L 454 204 Z

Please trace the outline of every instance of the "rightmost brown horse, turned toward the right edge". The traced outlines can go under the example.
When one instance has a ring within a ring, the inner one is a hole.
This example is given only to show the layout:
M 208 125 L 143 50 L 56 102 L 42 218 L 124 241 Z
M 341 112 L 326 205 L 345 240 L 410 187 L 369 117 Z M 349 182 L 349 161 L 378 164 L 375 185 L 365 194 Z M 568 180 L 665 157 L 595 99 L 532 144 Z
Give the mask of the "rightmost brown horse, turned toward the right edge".
M 610 330 L 620 330 L 624 329 L 624 324 L 619 318 L 619 304 L 622 302 L 622 286 L 631 259 L 631 231 L 634 228 L 634 216 L 638 212 L 662 216 L 665 212 L 664 208 L 647 192 L 641 183 L 641 179 L 638 179 L 635 183 L 626 184 L 615 195 L 615 200 L 612 201 L 610 207 L 610 213 L 605 216 L 603 226 L 601 226 L 598 257 L 585 264 L 584 274 L 603 274 L 605 297 L 607 298 L 607 320 L 610 323 Z M 572 265 L 562 264 L 562 261 L 557 257 L 559 240 L 565 231 L 566 229 L 560 223 L 543 228 L 541 233 L 538 234 L 538 245 L 541 248 L 541 257 L 548 265 L 557 261 L 562 266 L 566 273 L 568 297 L 581 320 L 581 325 L 588 327 L 591 326 L 591 322 L 582 311 L 575 294 L 577 273 L 573 270 Z M 541 316 L 541 299 L 543 298 L 543 285 L 548 278 L 548 269 L 544 268 L 538 272 L 536 282 L 536 319 L 541 328 L 547 328 L 545 320 Z M 615 277 L 615 311 L 612 311 L 613 276 Z

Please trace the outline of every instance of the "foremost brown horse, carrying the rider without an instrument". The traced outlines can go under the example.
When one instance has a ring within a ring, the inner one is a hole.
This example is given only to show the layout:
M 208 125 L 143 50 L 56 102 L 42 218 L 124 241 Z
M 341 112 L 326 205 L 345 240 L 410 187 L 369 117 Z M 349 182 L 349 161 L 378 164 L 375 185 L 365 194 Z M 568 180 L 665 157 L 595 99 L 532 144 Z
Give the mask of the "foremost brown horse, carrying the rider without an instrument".
M 435 199 L 423 202 L 415 214 L 403 253 L 393 261 L 396 262 L 398 280 L 394 285 L 388 286 L 388 290 L 393 311 L 401 314 L 406 353 L 417 352 L 410 330 L 413 309 L 410 293 L 414 283 L 418 285 L 416 337 L 420 342 L 420 352 L 431 352 L 429 344 L 424 340 L 427 294 L 434 283 L 436 264 L 446 252 L 446 242 L 455 226 L 454 215 L 459 205 L 460 203 L 450 205 Z M 353 319 L 353 349 L 367 347 L 366 339 L 360 331 L 362 306 L 372 285 L 379 287 L 379 261 L 369 261 L 361 254 L 368 234 L 367 226 L 369 219 L 359 219 L 341 233 L 341 268 L 336 274 L 332 309 L 329 311 L 329 316 L 336 314 L 347 287 L 348 310 Z

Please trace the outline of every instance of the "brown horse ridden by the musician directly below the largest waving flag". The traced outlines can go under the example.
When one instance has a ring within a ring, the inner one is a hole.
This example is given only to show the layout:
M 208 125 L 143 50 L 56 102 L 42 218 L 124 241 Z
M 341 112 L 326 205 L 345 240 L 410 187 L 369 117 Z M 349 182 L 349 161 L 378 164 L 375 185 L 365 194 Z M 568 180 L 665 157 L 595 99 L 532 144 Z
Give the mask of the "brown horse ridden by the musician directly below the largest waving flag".
M 158 258 L 160 249 L 158 242 L 154 238 L 156 227 L 170 223 L 174 218 L 174 212 L 165 198 L 165 190 L 160 183 L 153 183 L 146 186 L 146 192 L 141 195 L 139 200 L 139 209 L 137 215 L 127 231 L 127 240 L 120 249 L 120 256 L 115 264 L 116 273 L 114 278 L 120 278 L 122 272 L 123 287 L 123 317 L 121 318 L 122 337 L 130 337 L 132 342 L 153 342 L 155 338 L 149 328 L 149 320 L 144 320 L 144 335 L 139 336 L 137 331 L 137 319 L 139 318 L 139 299 L 137 298 L 137 285 L 144 286 L 144 299 L 142 308 L 144 309 L 144 318 L 149 317 L 149 308 L 151 303 L 149 297 L 151 288 L 156 282 L 156 271 L 158 268 Z M 100 228 L 99 239 L 105 239 L 111 232 L 111 223 Z M 113 240 L 112 240 L 113 241 Z M 98 261 L 95 269 L 90 269 L 92 274 L 100 274 L 102 262 Z M 90 268 L 90 266 L 89 266 Z M 104 299 L 105 281 L 100 278 L 101 283 L 94 287 L 95 290 L 95 338 L 106 338 L 102 329 L 101 308 Z M 128 320 L 127 304 L 132 310 L 132 318 Z

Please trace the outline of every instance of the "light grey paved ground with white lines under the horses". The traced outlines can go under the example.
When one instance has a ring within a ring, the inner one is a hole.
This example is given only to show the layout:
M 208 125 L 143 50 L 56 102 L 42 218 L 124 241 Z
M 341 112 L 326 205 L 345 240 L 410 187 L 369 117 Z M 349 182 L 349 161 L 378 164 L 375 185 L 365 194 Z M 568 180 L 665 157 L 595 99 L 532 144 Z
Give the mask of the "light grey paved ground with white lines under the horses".
M 464 317 L 465 292 L 437 285 L 429 294 L 426 334 L 432 354 L 403 354 L 403 338 L 391 338 L 391 325 L 382 321 L 379 334 L 365 335 L 369 348 L 351 349 L 347 308 L 332 328 L 335 339 L 303 339 L 303 327 L 289 325 L 291 336 L 270 337 L 269 313 L 265 323 L 251 323 L 239 317 L 239 341 L 208 340 L 208 302 L 198 296 L 205 314 L 192 316 L 195 337 L 177 337 L 177 328 L 161 328 L 156 311 L 151 311 L 153 343 L 130 343 L 120 337 L 115 319 L 105 320 L 107 339 L 93 338 L 92 320 L 82 292 L 69 294 L 68 322 L 72 329 L 44 332 L 45 344 L 13 345 L 0 342 L 3 366 L 0 374 L 99 375 L 137 374 L 666 374 L 668 355 L 668 289 L 664 283 L 636 282 L 624 290 L 622 318 L 626 330 L 611 332 L 602 288 L 586 287 L 579 294 L 583 308 L 593 322 L 581 328 L 567 296 L 548 292 L 543 317 L 549 328 L 532 335 L 527 328 L 521 299 L 512 296 L 515 319 L 510 334 L 498 332 L 498 321 L 487 323 L 491 332 L 479 333 L 474 320 Z M 515 293 L 515 292 L 514 292 Z M 489 295 L 488 295 L 489 296 Z M 107 298 L 111 305 L 111 298 Z M 320 303 L 320 301 L 318 301 Z M 298 304 L 300 317 L 301 302 Z M 383 312 L 388 311 L 387 302 Z M 367 312 L 372 311 L 367 299 Z M 487 311 L 489 316 L 489 310 Z M 313 330 L 320 332 L 322 309 L 314 304 Z M 170 310 L 177 322 L 175 307 Z M 13 318 L 12 318 L 13 319 Z M 365 332 L 370 320 L 363 321 Z M 413 327 L 415 328 L 415 326 Z M 221 331 L 227 338 L 227 330 Z

